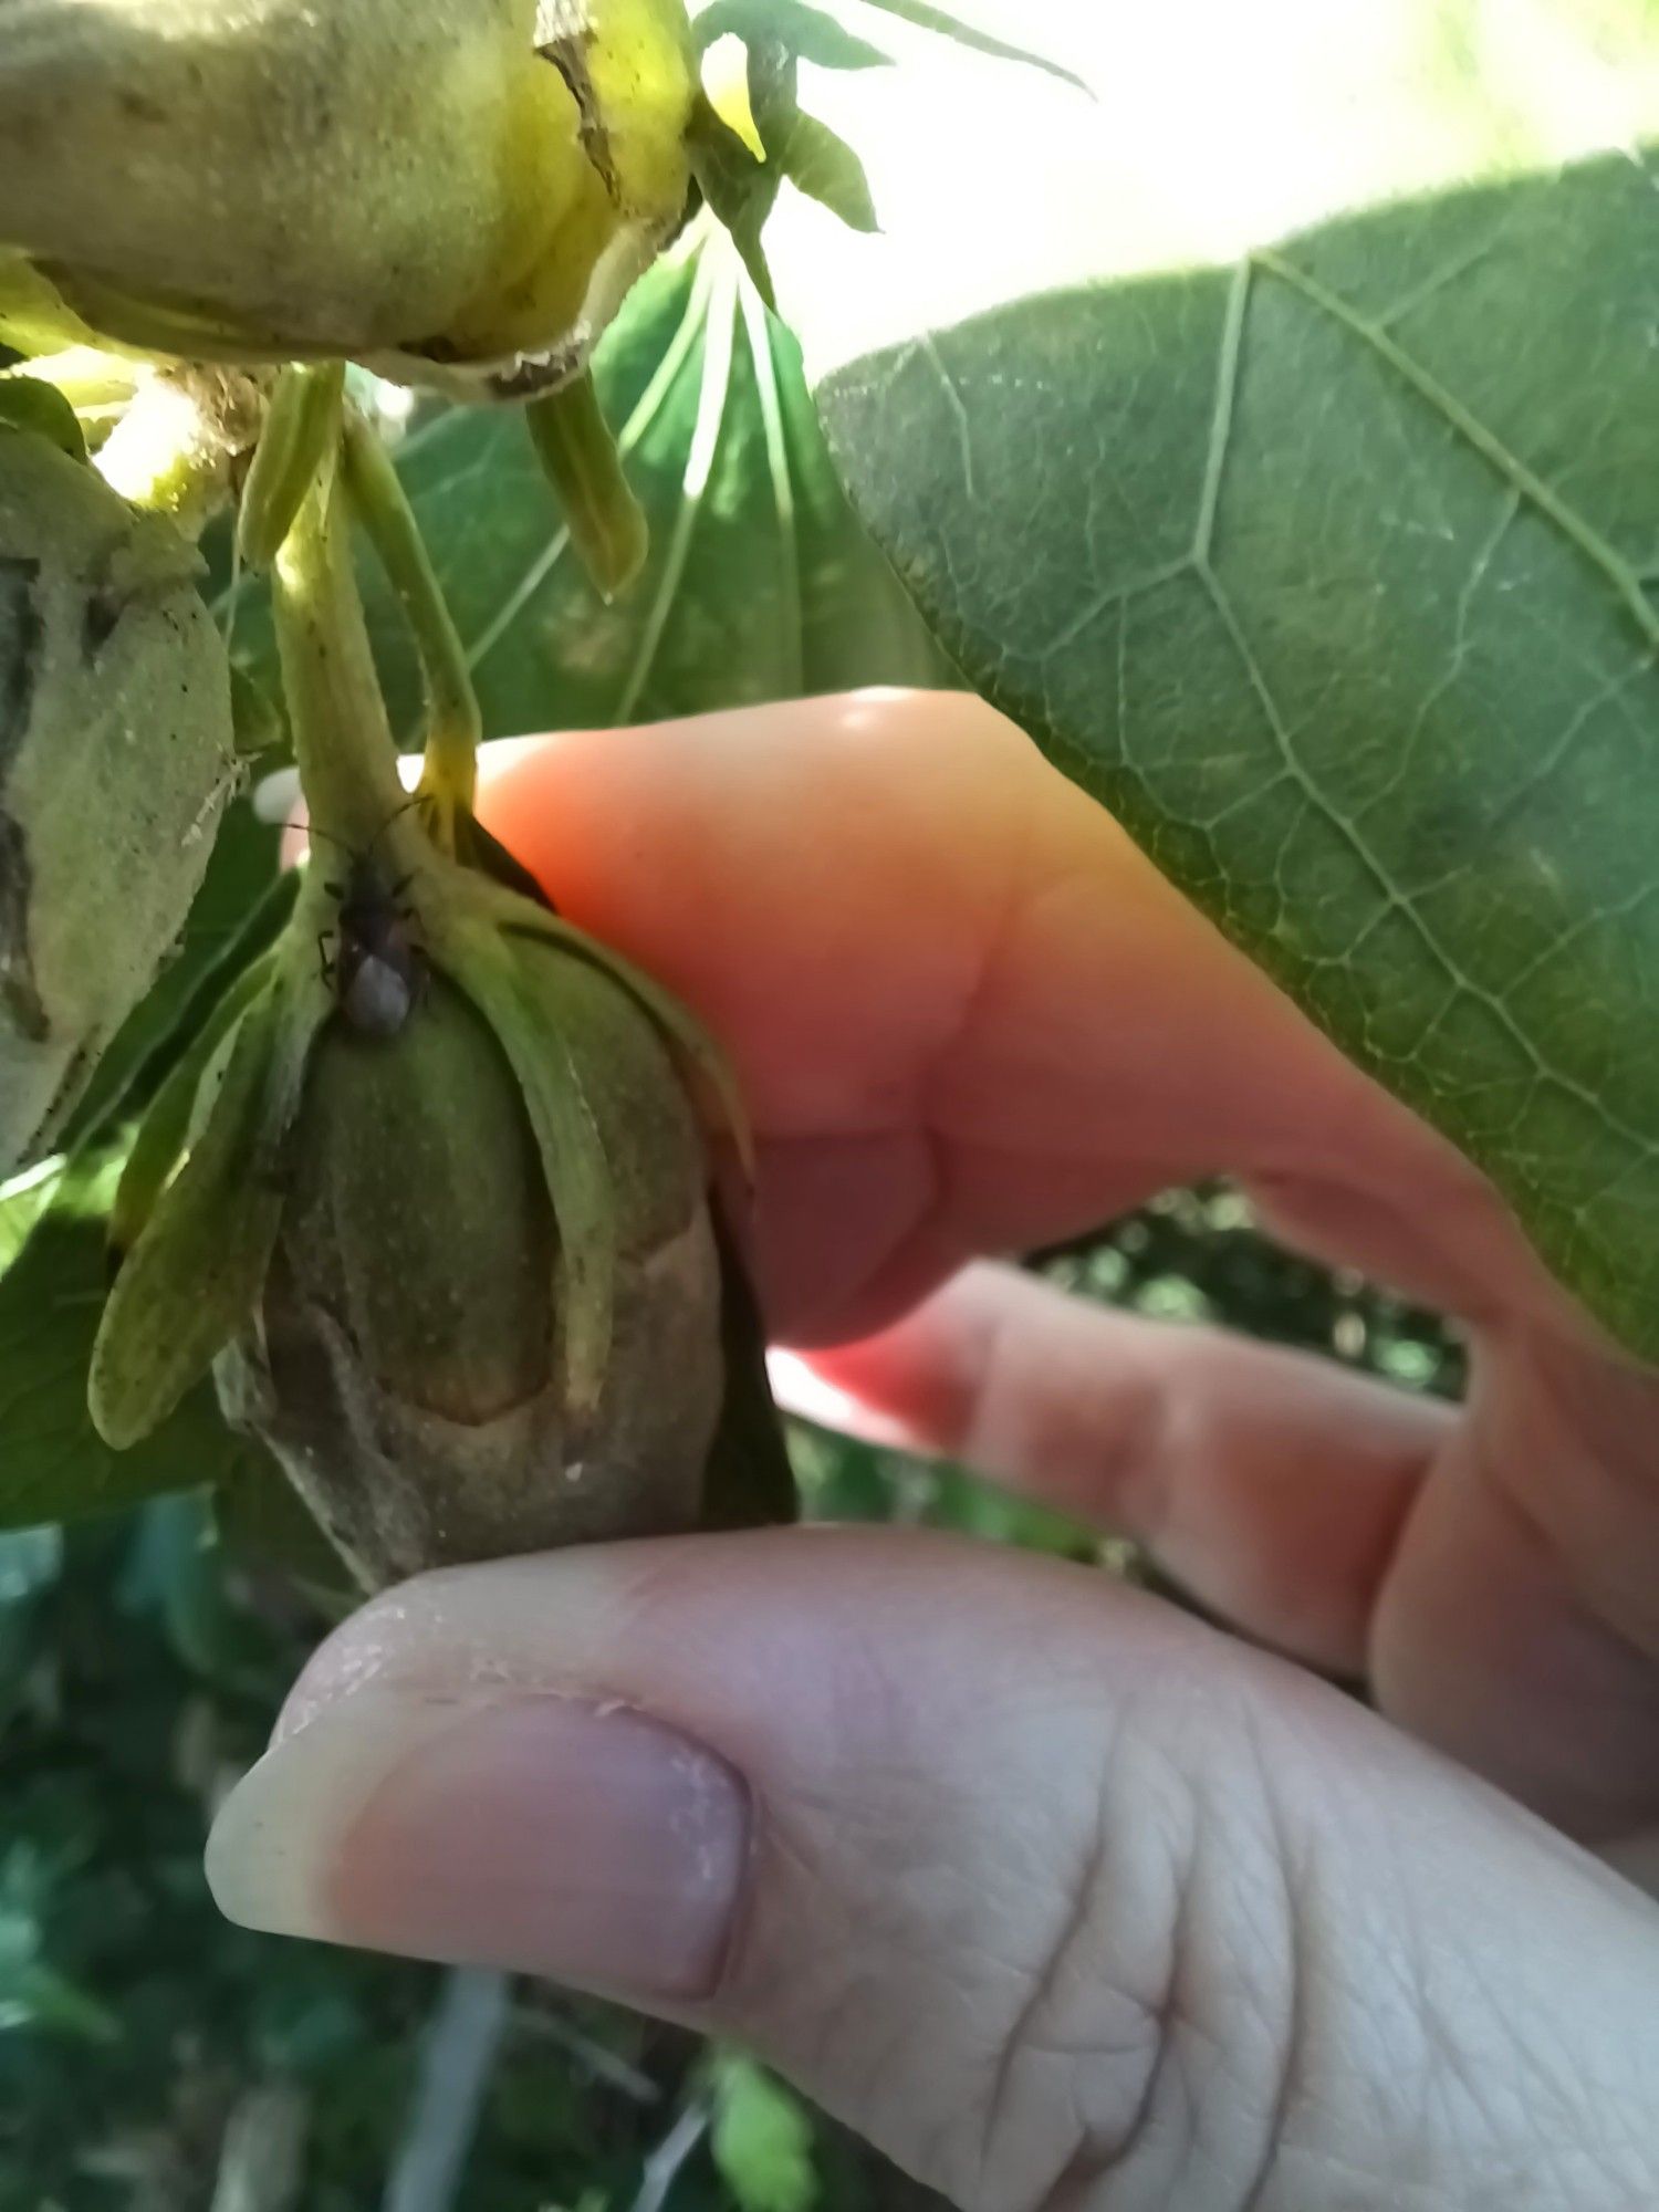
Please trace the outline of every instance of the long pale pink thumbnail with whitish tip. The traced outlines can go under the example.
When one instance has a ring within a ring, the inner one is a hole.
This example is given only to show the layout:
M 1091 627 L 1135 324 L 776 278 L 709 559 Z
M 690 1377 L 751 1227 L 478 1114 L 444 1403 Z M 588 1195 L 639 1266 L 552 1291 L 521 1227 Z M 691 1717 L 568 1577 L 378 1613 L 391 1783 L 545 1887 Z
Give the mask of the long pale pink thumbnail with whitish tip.
M 369 1686 L 226 1798 L 208 1882 L 243 1927 L 686 2002 L 719 1978 L 748 1827 L 732 1767 L 644 1714 Z

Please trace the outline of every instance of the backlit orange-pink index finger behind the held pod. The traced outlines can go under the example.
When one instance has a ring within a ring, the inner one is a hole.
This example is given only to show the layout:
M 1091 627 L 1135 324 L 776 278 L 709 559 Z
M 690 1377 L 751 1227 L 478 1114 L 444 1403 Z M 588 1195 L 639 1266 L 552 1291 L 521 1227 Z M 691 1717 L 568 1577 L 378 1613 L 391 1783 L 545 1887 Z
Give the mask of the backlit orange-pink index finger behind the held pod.
M 1374 1223 L 1409 1192 L 1436 1230 L 1389 1272 L 1442 1303 L 1535 1281 L 1460 1155 L 973 697 L 522 743 L 491 759 L 482 812 L 732 1051 L 761 1276 L 794 1340 L 860 1334 L 969 1254 L 1217 1168 L 1329 1188 Z

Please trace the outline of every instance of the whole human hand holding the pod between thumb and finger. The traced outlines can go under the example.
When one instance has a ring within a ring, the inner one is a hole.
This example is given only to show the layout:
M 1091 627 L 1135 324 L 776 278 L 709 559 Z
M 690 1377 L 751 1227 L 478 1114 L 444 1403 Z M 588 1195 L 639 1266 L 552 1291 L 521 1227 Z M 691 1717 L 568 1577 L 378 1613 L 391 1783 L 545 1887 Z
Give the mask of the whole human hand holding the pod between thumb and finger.
M 1564 1834 L 1639 1871 L 1659 1823 L 1659 1383 L 975 701 L 560 739 L 487 799 L 730 1042 L 768 1310 L 847 1418 L 1400 1725 L 960 1542 L 518 1559 L 319 1652 L 226 1909 L 743 2037 L 975 2212 L 1659 2201 L 1659 1922 Z M 1467 1409 L 962 1272 L 1214 1168 L 1462 1314 Z

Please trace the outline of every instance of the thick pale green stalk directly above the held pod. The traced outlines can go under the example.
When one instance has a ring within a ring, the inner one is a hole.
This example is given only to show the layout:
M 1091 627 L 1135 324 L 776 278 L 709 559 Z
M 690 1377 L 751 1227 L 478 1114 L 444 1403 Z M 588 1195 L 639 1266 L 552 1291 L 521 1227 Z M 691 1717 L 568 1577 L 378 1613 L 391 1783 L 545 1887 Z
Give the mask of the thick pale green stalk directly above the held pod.
M 312 825 L 349 852 L 369 852 L 405 796 L 332 469 L 276 555 L 272 608 Z

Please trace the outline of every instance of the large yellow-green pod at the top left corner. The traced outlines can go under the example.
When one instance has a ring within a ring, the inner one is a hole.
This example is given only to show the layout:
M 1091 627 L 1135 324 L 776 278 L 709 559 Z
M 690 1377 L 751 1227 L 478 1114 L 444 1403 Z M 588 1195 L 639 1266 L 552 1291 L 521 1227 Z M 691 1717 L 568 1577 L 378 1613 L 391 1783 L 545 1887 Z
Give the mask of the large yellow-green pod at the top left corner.
M 695 91 L 681 0 L 4 0 L 0 246 L 119 343 L 529 389 L 679 221 Z

